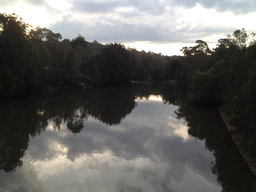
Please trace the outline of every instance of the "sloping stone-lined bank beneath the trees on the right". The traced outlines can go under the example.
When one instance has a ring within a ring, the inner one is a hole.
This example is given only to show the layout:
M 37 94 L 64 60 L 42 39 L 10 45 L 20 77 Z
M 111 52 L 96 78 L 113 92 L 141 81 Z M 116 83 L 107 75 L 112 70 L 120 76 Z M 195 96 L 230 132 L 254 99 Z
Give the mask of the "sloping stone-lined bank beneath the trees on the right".
M 216 108 L 219 112 L 221 118 L 223 119 L 224 123 L 227 126 L 227 129 L 235 142 L 240 154 L 242 155 L 244 161 L 247 163 L 249 168 L 251 169 L 252 173 L 256 176 L 256 157 L 252 157 L 250 154 L 250 149 L 248 147 L 248 142 L 250 139 L 250 135 L 245 135 L 241 133 L 241 131 L 235 131 L 235 128 L 233 126 L 229 125 L 228 116 L 225 114 L 221 106 Z M 256 149 L 253 149 L 256 150 Z

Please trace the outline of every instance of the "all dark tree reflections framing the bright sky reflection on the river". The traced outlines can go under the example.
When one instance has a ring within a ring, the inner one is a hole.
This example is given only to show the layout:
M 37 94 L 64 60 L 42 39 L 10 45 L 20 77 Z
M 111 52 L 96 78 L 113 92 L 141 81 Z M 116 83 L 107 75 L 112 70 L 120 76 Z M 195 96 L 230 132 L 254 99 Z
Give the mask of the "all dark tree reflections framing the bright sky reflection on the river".
M 212 108 L 190 106 L 185 101 L 184 87 L 159 82 L 69 90 L 1 102 L 0 169 L 13 172 L 22 166 L 30 138 L 45 132 L 49 122 L 52 129 L 59 131 L 66 125 L 73 134 L 87 129 L 84 122 L 89 116 L 109 126 L 117 125 L 136 107 L 136 98 L 149 99 L 150 95 L 161 96 L 163 104 L 179 106 L 175 113 L 177 118 L 185 120 L 188 134 L 205 141 L 206 149 L 214 153 L 216 161 L 212 162 L 211 170 L 217 175 L 223 191 L 251 189 L 255 177 L 243 174 L 249 168 L 240 155 L 234 155 L 238 150 L 218 112 Z M 122 138 L 125 139 L 129 138 Z M 132 186 L 123 187 L 120 185 L 118 189 L 133 190 Z

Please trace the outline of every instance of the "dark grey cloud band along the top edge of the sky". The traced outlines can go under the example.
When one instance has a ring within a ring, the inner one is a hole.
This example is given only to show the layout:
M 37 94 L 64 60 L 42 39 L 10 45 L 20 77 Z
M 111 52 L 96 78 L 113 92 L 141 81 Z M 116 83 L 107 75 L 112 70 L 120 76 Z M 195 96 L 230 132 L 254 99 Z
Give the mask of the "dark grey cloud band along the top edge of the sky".
M 126 12 L 128 10 L 135 10 L 137 13 L 147 13 L 152 15 L 162 15 L 166 11 L 166 7 L 172 7 L 177 9 L 178 7 L 183 7 L 185 9 L 194 8 L 197 4 L 200 4 L 207 9 L 216 9 L 218 12 L 230 11 L 232 13 L 245 14 L 254 12 L 255 1 L 250 0 L 237 0 L 237 1 L 227 1 L 227 0 L 175 0 L 175 1 L 72 1 L 73 8 L 72 11 L 89 12 L 89 13 L 108 13 L 115 12 L 116 10 L 122 10 Z M 129 9 L 132 8 L 132 9 Z

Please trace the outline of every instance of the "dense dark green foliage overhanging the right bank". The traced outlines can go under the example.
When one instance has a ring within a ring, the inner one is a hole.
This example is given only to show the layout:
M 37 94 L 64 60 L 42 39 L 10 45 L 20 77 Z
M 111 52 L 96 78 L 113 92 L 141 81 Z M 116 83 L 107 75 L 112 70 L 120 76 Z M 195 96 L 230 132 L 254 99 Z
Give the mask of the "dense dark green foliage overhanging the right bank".
M 188 98 L 202 104 L 222 104 L 230 125 L 250 137 L 249 146 L 256 146 L 255 33 L 249 36 L 244 29 L 236 30 L 218 42 L 211 52 L 205 46 L 183 48 L 189 68 L 183 68 L 190 87 Z

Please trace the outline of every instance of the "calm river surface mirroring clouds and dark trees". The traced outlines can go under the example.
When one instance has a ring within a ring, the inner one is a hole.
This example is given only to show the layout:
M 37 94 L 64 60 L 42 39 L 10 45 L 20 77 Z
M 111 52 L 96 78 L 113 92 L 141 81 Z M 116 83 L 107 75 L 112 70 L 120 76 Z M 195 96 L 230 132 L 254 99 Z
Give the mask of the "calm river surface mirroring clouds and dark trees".
M 218 112 L 166 83 L 0 103 L 0 191 L 250 191 Z

